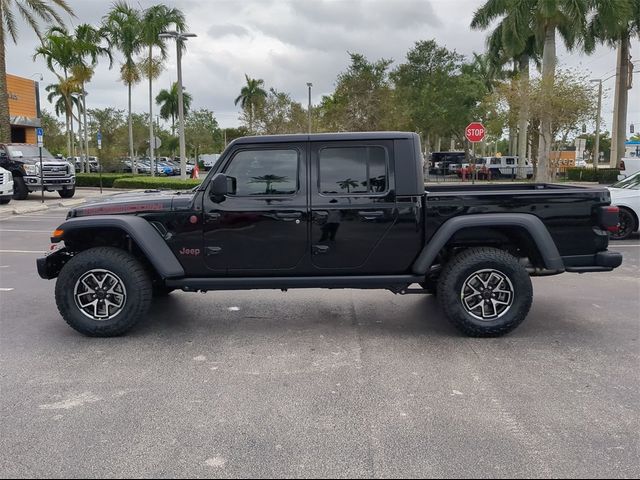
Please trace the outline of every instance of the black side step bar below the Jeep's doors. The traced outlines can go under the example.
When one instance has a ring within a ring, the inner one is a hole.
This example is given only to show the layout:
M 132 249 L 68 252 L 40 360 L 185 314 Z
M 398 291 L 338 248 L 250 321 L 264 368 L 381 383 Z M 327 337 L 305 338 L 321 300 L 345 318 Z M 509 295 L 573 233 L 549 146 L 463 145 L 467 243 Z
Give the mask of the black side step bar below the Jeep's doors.
M 405 290 L 412 283 L 424 281 L 422 275 L 366 275 L 331 277 L 222 277 L 179 278 L 165 281 L 169 288 L 186 292 L 207 290 L 259 290 L 289 288 L 372 288 Z

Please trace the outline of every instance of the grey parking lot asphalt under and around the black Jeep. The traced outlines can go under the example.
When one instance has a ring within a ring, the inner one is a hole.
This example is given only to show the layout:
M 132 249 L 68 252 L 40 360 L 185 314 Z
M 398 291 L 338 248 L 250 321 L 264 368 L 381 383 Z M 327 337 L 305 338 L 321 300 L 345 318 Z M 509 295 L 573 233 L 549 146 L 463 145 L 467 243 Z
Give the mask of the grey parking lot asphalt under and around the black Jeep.
M 640 238 L 461 336 L 430 296 L 174 292 L 122 338 L 57 312 L 66 210 L 0 218 L 2 477 L 639 477 Z

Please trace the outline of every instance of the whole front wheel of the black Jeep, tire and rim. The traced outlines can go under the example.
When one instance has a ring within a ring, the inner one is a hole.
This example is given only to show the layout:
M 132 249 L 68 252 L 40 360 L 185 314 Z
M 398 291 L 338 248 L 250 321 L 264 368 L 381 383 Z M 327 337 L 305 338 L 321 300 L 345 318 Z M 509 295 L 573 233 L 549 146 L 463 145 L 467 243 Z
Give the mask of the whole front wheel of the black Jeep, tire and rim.
M 60 314 L 90 337 L 115 337 L 133 328 L 147 313 L 151 293 L 151 279 L 142 264 L 113 247 L 75 255 L 56 282 Z

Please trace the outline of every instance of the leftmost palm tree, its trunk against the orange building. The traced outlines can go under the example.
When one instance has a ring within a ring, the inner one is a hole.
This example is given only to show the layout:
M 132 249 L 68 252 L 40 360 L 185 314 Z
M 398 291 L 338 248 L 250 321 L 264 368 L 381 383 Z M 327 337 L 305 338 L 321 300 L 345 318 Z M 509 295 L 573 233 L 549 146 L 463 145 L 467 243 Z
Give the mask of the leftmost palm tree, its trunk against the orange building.
M 18 43 L 18 26 L 16 24 L 16 13 L 18 13 L 40 37 L 38 21 L 64 25 L 57 9 L 74 16 L 73 10 L 65 0 L 0 0 L 0 142 L 11 141 L 5 59 L 6 33 L 9 34 L 8 36 L 11 37 L 13 43 Z

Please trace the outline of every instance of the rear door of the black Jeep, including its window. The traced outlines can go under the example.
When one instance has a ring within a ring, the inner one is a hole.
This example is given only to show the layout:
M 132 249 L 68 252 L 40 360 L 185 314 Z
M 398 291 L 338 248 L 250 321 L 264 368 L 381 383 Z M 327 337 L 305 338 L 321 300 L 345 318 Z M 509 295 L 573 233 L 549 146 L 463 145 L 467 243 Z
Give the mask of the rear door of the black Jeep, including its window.
M 310 150 L 312 264 L 326 273 L 371 273 L 397 216 L 393 141 L 319 141 Z

